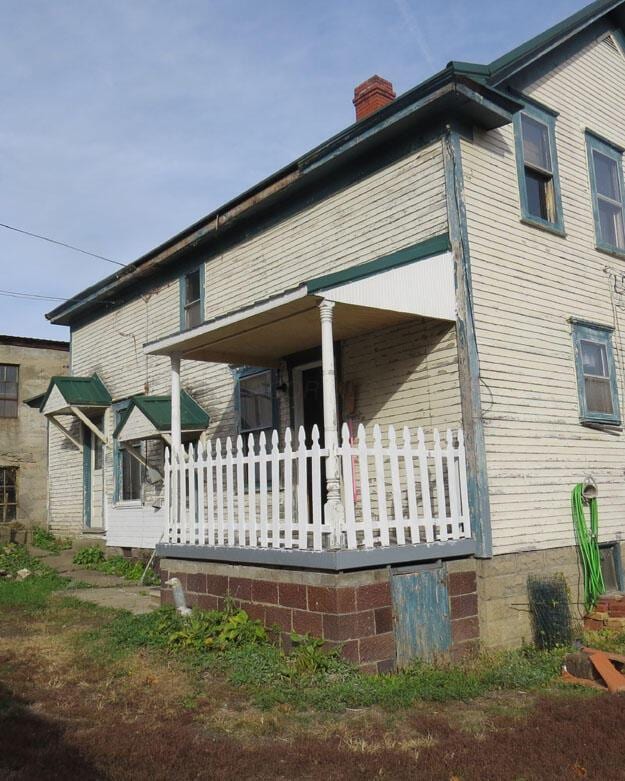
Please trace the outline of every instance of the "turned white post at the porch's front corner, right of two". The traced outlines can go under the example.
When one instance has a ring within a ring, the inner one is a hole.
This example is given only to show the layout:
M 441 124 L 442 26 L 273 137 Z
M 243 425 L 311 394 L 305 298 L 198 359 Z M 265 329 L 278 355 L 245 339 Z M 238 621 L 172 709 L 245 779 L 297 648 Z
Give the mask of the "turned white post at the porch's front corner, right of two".
M 341 544 L 341 531 L 345 511 L 341 502 L 341 481 L 336 448 L 338 446 L 338 413 L 336 408 L 336 376 L 334 372 L 334 337 L 332 334 L 332 318 L 334 301 L 323 300 L 319 304 L 321 318 L 321 371 L 323 377 L 323 427 L 324 446 L 328 449 L 326 458 L 326 490 L 325 520 L 332 529 L 331 544 L 338 547 Z

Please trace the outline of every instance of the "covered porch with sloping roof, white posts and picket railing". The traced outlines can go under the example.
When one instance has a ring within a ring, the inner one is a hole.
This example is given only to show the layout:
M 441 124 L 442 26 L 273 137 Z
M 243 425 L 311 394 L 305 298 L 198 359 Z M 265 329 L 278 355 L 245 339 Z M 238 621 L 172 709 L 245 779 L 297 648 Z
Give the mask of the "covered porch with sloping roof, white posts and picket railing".
M 447 237 L 426 244 L 146 346 L 171 360 L 162 555 L 349 569 L 473 552 L 461 429 L 339 426 L 336 342 L 455 321 Z M 182 361 L 277 367 L 318 347 L 321 426 L 182 445 Z

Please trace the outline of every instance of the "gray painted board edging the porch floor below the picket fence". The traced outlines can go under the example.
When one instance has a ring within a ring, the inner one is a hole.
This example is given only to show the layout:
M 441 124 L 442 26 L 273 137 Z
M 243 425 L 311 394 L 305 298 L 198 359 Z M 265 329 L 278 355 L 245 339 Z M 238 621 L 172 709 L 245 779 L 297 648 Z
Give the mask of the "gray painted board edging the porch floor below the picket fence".
M 308 551 L 284 548 L 237 548 L 211 545 L 180 545 L 160 543 L 156 555 L 168 559 L 192 559 L 195 561 L 225 561 L 232 564 L 260 564 L 290 569 L 345 570 L 385 567 L 419 561 L 454 559 L 472 556 L 475 540 L 450 540 L 419 545 L 393 545 L 371 550 Z

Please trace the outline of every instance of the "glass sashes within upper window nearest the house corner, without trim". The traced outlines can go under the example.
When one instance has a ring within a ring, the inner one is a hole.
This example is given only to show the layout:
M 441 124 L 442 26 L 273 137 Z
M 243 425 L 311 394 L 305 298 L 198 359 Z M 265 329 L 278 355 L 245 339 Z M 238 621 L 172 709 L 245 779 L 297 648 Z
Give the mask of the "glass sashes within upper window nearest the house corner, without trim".
M 549 128 L 544 122 L 522 114 L 521 132 L 527 211 L 531 217 L 555 223 L 557 218 Z

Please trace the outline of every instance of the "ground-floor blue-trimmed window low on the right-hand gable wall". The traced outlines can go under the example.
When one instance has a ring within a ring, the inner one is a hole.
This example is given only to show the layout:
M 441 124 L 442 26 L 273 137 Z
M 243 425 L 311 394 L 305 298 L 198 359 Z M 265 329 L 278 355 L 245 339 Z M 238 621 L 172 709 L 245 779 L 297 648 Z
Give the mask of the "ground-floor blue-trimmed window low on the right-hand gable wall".
M 573 323 L 573 345 L 582 422 L 621 422 L 612 328 Z

